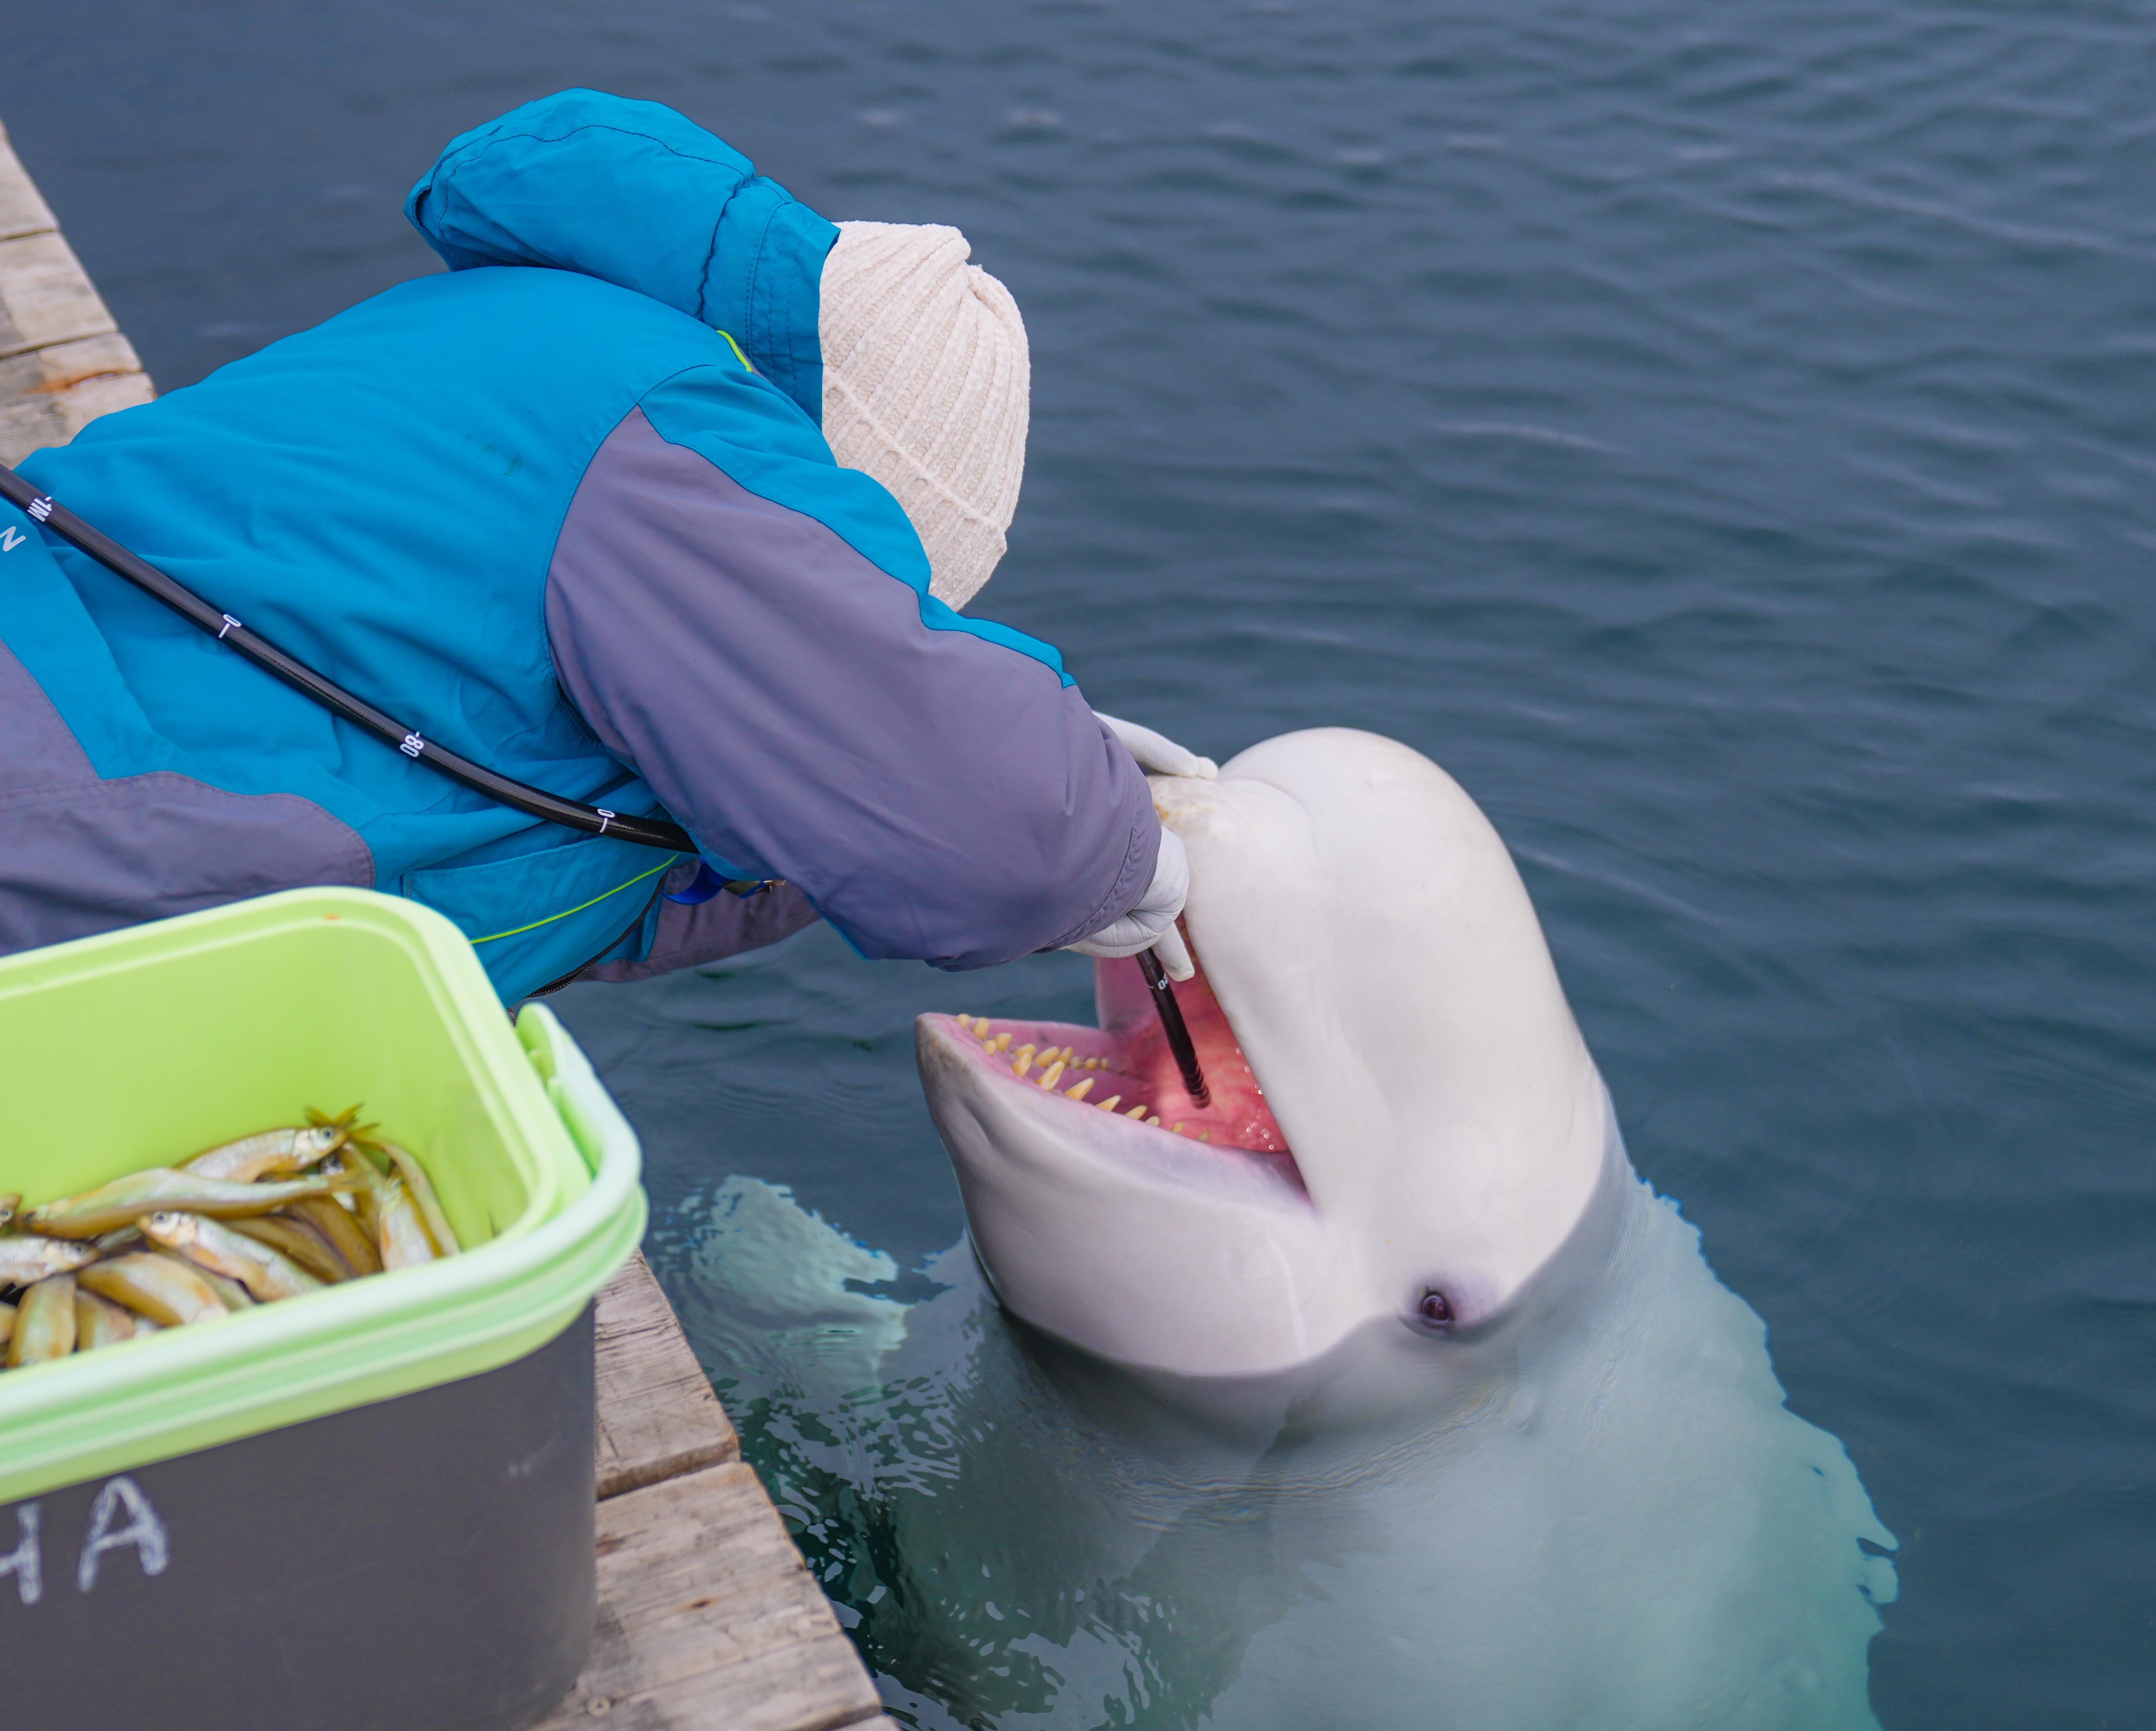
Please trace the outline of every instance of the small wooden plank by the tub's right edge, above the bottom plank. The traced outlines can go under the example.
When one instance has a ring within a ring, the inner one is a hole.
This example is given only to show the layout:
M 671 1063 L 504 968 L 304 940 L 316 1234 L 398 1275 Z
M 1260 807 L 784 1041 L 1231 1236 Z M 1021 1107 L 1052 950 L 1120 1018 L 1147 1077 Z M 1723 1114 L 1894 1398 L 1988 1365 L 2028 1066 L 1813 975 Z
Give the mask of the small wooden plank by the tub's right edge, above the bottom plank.
M 742 1457 L 642 1252 L 599 1293 L 599 1498 Z

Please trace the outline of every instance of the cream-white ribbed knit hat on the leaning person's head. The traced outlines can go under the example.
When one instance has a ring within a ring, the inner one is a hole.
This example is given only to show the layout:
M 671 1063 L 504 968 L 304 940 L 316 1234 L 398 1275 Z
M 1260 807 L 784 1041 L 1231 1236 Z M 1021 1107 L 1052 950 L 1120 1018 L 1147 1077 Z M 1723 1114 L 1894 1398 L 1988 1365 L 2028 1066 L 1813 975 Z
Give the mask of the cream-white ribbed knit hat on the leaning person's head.
M 824 438 L 906 507 L 929 588 L 966 606 L 1003 558 L 1033 369 L 1018 302 L 957 229 L 841 222 L 824 259 Z

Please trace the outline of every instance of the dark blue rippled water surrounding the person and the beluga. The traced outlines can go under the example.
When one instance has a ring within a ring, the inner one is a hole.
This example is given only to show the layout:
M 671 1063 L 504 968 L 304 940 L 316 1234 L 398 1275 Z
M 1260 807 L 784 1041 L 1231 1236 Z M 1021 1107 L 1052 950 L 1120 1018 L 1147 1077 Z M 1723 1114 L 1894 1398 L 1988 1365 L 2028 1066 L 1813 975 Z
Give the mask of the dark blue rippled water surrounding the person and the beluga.
M 1902 1539 L 1882 1722 L 2152 1720 L 2156 11 L 19 11 L 0 119 L 162 388 L 429 269 L 403 188 L 563 84 L 964 226 L 1035 364 L 977 610 L 1197 750 L 1453 770 Z M 808 933 L 565 1009 L 688 1302 L 729 1175 L 949 1246 L 910 1015 L 1084 998 Z

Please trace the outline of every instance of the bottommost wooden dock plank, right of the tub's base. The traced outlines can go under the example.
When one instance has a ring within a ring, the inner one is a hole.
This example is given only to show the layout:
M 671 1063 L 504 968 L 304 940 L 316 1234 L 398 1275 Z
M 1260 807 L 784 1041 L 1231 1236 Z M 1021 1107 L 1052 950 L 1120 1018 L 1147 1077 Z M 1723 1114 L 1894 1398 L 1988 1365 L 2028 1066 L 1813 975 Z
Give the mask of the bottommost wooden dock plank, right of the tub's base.
M 742 1462 L 599 1505 L 591 1664 L 539 1731 L 888 1725 L 869 1673 Z

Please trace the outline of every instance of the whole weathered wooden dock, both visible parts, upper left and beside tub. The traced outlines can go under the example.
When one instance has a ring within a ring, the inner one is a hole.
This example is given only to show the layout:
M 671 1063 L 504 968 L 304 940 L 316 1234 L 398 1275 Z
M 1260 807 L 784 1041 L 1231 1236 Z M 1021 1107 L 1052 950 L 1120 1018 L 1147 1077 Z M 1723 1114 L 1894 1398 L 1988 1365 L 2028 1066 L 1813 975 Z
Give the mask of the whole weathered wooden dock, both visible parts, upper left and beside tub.
M 0 461 L 151 401 L 0 129 Z M 599 1296 L 599 1625 L 567 1731 L 897 1731 L 642 1257 Z

